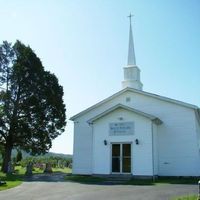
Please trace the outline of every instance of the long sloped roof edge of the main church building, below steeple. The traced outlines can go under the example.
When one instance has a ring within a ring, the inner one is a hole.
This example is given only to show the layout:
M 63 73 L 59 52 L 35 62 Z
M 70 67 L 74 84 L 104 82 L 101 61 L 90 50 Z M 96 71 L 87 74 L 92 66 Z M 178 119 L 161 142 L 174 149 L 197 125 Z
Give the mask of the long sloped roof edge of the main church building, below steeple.
M 142 95 L 149 96 L 149 97 L 152 97 L 152 98 L 156 98 L 156 99 L 159 99 L 159 100 L 162 100 L 162 101 L 166 101 L 166 102 L 170 102 L 170 103 L 174 103 L 174 104 L 177 104 L 177 105 L 180 105 L 180 106 L 184 106 L 184 107 L 187 107 L 187 108 L 194 109 L 194 110 L 196 110 L 196 112 L 198 113 L 198 116 L 200 118 L 200 110 L 199 110 L 198 106 L 195 106 L 195 105 L 192 105 L 192 104 L 189 104 L 189 103 L 185 103 L 185 102 L 182 102 L 182 101 L 178 101 L 178 100 L 175 100 L 175 99 L 171 99 L 171 98 L 168 98 L 168 97 L 164 97 L 164 96 L 156 95 L 156 94 L 153 94 L 153 93 L 149 93 L 149 92 L 145 92 L 145 91 L 141 91 L 141 90 L 137 90 L 137 89 L 134 89 L 134 88 L 128 88 L 127 87 L 127 88 L 120 90 L 119 92 L 113 94 L 112 96 L 100 101 L 99 103 L 87 108 L 86 110 L 83 110 L 82 112 L 74 115 L 73 117 L 70 118 L 70 120 L 74 121 L 76 118 L 86 114 L 87 112 L 97 108 L 98 106 L 101 106 L 102 104 L 114 99 L 115 97 L 117 97 L 117 96 L 119 96 L 119 95 L 121 95 L 121 94 L 123 94 L 124 92 L 127 92 L 127 91 L 142 94 Z

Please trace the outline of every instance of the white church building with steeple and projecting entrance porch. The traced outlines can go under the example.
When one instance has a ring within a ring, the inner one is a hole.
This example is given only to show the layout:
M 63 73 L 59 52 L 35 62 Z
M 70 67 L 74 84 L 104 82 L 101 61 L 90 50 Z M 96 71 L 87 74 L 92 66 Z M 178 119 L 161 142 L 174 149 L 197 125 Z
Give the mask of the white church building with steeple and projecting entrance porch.
M 200 109 L 142 90 L 131 20 L 128 49 L 123 89 L 71 117 L 72 173 L 200 176 Z

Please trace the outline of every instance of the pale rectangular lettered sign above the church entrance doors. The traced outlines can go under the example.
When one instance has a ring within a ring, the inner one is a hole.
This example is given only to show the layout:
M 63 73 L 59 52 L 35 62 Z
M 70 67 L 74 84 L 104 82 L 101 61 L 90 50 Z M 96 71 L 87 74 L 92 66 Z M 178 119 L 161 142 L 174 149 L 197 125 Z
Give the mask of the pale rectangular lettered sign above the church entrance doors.
M 134 122 L 117 122 L 109 124 L 110 135 L 133 135 Z

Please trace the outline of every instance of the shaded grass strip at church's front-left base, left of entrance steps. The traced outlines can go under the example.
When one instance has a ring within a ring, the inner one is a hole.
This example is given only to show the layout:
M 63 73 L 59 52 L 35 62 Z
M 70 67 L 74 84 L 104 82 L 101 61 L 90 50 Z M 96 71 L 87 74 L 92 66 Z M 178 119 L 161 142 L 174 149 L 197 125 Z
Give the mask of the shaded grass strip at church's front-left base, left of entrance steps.
M 82 176 L 82 175 L 68 175 L 65 177 L 66 181 L 73 181 L 78 183 L 85 183 L 85 184 L 95 184 L 95 183 L 101 183 L 105 181 L 105 178 L 100 177 L 93 177 L 93 176 Z

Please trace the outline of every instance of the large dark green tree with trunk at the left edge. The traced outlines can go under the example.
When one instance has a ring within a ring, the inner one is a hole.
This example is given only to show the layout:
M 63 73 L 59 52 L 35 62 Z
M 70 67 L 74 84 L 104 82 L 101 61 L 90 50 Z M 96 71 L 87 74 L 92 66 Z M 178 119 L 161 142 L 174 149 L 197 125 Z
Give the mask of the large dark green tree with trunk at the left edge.
M 47 152 L 66 125 L 63 88 L 29 46 L 0 46 L 0 145 L 7 172 L 14 147 Z

